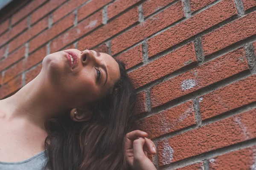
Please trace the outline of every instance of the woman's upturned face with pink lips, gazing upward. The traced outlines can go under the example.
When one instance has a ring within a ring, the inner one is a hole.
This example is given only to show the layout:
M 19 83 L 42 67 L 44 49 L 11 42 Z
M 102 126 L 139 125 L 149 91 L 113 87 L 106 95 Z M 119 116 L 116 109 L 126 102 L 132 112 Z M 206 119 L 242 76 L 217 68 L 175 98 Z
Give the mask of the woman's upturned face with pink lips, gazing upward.
M 113 57 L 94 50 L 69 49 L 49 54 L 43 59 L 42 71 L 56 92 L 53 95 L 59 95 L 67 108 L 100 99 L 120 77 Z

